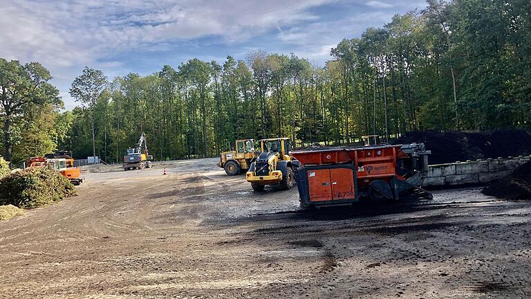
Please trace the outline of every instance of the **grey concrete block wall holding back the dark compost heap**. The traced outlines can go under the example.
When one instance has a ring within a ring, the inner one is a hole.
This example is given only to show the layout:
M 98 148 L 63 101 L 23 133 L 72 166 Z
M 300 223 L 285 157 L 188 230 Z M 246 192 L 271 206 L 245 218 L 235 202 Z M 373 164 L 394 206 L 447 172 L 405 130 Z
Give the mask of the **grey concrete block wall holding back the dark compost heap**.
M 489 183 L 510 174 L 516 167 L 531 161 L 531 156 L 496 158 L 478 161 L 429 165 L 422 185 L 463 185 Z

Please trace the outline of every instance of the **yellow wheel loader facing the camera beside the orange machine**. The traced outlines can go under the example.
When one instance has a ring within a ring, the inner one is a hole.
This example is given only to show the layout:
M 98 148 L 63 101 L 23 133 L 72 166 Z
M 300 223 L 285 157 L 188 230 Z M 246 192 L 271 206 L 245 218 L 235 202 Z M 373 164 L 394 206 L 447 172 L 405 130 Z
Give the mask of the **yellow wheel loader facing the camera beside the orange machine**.
M 290 155 L 290 138 L 262 139 L 260 147 L 261 154 L 245 175 L 252 189 L 262 191 L 265 185 L 278 185 L 282 190 L 293 188 L 294 173 L 301 163 Z

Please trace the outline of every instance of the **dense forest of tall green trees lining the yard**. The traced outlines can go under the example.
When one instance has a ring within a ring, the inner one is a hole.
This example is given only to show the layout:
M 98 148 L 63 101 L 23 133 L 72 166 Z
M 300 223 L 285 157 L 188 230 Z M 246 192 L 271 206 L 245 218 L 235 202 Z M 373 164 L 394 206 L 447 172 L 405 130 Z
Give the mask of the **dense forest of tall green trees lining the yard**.
M 142 132 L 163 160 L 215 156 L 237 138 L 531 127 L 529 0 L 430 0 L 330 55 L 315 66 L 257 50 L 113 79 L 86 67 L 70 89 L 80 105 L 66 112 L 43 66 L 0 59 L 0 147 L 8 161 L 69 149 L 112 163 Z

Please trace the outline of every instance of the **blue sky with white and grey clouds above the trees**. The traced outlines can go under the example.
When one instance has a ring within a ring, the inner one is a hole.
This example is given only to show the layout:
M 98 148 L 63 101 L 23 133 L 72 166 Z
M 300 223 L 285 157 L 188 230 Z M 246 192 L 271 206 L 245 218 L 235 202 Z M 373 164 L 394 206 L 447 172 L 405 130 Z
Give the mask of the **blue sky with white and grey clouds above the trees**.
M 197 57 L 223 63 L 256 49 L 295 53 L 312 64 L 330 48 L 382 27 L 425 0 L 0 0 L 0 57 L 40 62 L 65 109 L 84 66 L 149 75 Z

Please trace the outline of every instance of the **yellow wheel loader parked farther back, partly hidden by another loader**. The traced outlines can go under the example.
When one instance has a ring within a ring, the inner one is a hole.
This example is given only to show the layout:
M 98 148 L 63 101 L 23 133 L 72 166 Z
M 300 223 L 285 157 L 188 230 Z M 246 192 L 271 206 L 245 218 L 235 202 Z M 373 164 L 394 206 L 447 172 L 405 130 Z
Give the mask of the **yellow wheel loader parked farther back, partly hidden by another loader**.
M 236 141 L 236 150 L 222 152 L 218 166 L 232 176 L 246 172 L 257 154 L 254 152 L 254 139 L 242 139 Z

